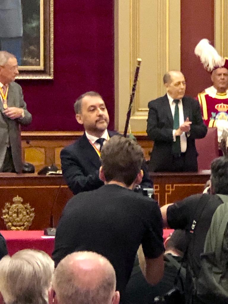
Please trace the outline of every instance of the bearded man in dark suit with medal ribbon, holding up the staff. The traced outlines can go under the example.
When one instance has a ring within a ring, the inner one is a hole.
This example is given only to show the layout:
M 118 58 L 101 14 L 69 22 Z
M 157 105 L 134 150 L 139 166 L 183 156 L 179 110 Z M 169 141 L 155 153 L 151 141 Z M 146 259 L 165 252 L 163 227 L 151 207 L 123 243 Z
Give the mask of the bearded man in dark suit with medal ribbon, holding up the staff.
M 74 194 L 101 187 L 100 150 L 110 137 L 118 133 L 108 131 L 109 114 L 100 94 L 86 92 L 74 104 L 76 120 L 85 128 L 83 136 L 61 153 L 61 165 L 65 181 Z M 120 151 L 121 153 L 121 151 Z M 145 165 L 143 188 L 153 188 Z

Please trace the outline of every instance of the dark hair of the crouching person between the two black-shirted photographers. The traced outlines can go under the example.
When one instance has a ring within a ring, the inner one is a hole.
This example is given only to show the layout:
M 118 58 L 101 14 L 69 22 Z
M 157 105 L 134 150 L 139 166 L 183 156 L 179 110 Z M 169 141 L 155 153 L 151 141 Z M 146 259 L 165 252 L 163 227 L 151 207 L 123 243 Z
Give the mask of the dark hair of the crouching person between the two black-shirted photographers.
M 183 256 L 187 247 L 186 231 L 176 229 L 171 235 L 171 238 L 167 241 L 166 250 L 177 250 L 180 256 Z

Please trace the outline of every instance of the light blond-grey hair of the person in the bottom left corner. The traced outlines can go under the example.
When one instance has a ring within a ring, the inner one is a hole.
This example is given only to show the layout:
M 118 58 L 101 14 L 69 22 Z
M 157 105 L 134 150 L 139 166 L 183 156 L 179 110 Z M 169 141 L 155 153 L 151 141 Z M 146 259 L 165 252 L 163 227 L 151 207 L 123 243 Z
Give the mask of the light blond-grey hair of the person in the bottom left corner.
M 43 251 L 24 249 L 0 261 L 0 292 L 6 304 L 47 304 L 54 261 Z

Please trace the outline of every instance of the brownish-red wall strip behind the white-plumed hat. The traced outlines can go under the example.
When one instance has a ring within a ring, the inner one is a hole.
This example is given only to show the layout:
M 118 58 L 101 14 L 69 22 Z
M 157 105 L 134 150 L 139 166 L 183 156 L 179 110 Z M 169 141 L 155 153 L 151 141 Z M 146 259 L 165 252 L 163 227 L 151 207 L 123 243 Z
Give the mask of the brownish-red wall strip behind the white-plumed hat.
M 186 95 L 192 97 L 211 86 L 210 74 L 194 54 L 203 38 L 214 44 L 214 0 L 181 0 L 181 71 Z

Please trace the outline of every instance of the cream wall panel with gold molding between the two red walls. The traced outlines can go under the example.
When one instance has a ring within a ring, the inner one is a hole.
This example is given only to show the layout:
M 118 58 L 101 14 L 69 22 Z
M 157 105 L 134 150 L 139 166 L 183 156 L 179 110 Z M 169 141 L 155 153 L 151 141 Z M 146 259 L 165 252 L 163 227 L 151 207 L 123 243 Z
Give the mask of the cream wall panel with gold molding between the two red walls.
M 123 132 L 136 58 L 142 59 L 130 126 L 146 132 L 150 100 L 163 75 L 180 70 L 180 0 L 115 1 L 115 129 Z

